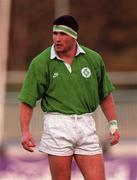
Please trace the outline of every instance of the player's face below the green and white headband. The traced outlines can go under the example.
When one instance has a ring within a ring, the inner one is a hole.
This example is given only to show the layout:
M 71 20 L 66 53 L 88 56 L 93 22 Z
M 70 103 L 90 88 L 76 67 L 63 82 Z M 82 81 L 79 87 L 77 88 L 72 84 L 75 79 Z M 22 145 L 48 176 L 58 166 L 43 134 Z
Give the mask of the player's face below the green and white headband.
M 66 53 L 74 48 L 76 40 L 64 32 L 53 32 L 53 43 L 57 53 Z

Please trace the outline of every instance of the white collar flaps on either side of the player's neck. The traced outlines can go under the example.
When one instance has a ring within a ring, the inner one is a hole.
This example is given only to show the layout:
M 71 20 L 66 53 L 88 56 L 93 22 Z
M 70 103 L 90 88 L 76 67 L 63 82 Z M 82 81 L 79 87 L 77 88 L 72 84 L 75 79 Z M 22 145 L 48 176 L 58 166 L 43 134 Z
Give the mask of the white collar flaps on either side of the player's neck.
M 85 51 L 80 47 L 80 45 L 77 43 L 77 52 L 75 56 L 78 56 L 80 53 L 85 54 Z M 62 60 L 56 53 L 54 44 L 51 46 L 51 53 L 50 53 L 50 59 L 57 58 L 59 60 Z

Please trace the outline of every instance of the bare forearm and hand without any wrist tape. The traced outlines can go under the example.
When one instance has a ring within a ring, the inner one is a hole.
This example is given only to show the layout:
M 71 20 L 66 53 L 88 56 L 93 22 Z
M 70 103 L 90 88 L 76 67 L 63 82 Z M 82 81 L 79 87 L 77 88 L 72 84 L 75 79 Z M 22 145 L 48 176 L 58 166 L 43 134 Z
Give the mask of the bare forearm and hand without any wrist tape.
M 33 108 L 26 103 L 20 106 L 20 126 L 22 132 L 22 146 L 25 150 L 33 152 L 36 146 L 35 141 L 30 133 L 30 121 L 32 118 Z

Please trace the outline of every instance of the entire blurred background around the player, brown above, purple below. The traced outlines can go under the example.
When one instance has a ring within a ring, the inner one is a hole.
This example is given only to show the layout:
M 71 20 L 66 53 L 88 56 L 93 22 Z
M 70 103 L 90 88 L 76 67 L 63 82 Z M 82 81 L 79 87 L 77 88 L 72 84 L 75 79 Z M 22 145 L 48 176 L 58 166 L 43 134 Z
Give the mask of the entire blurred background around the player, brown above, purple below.
M 136 0 L 0 0 L 0 179 L 50 180 L 47 157 L 20 146 L 17 95 L 32 59 L 52 44 L 54 18 L 71 14 L 80 25 L 78 42 L 102 55 L 117 88 L 113 95 L 121 141 L 115 147 L 108 144 L 103 113 L 100 108 L 95 112 L 107 180 L 137 180 L 136 12 Z M 38 143 L 43 123 L 39 104 L 31 123 Z M 82 180 L 75 163 L 72 179 Z

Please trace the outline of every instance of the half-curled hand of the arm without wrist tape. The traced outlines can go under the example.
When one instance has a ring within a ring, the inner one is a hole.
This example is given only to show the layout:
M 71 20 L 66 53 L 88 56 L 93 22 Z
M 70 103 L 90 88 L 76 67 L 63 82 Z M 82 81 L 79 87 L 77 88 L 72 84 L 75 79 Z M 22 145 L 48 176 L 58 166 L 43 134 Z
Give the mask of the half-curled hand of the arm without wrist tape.
M 25 132 L 22 134 L 22 143 L 21 144 L 22 144 L 23 148 L 29 152 L 33 152 L 34 147 L 36 146 L 36 143 L 35 143 L 32 135 L 30 134 L 30 132 Z

